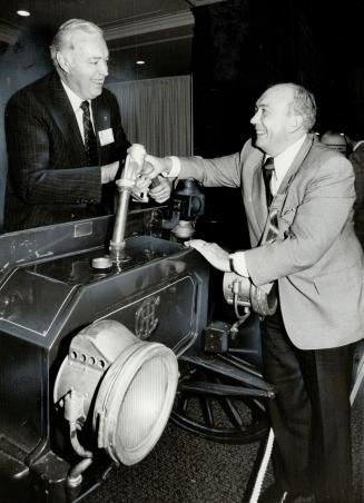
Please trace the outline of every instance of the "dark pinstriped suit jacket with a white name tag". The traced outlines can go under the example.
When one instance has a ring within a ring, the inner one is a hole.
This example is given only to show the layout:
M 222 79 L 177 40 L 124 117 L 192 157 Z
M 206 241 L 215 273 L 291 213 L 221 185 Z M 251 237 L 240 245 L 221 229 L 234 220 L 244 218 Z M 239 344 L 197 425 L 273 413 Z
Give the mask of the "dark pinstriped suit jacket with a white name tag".
M 112 210 L 114 185 L 101 186 L 100 166 L 124 159 L 129 142 L 117 100 L 107 89 L 92 100 L 92 115 L 99 166 L 87 166 L 76 116 L 56 71 L 10 98 L 6 108 L 7 230 L 90 218 Z M 101 146 L 98 131 L 109 128 L 115 141 Z M 109 207 L 107 201 L 111 203 Z

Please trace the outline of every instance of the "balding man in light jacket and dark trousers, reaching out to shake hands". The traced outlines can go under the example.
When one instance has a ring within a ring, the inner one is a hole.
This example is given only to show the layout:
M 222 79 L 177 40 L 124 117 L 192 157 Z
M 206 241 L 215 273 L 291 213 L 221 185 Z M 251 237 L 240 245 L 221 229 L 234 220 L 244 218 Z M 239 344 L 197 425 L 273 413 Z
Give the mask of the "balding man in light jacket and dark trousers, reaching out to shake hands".
M 308 132 L 315 119 L 314 97 L 282 83 L 258 99 L 255 139 L 240 152 L 147 156 L 150 177 L 240 187 L 252 249 L 228 254 L 203 240 L 189 246 L 220 270 L 256 286 L 278 285 L 277 313 L 262 326 L 265 376 L 277 387 L 269 403 L 276 483 L 262 497 L 267 502 L 311 493 L 317 502 L 352 501 L 348 396 L 353 343 L 364 334 L 363 251 L 353 228 L 352 165 Z M 269 157 L 274 170 L 265 184 Z M 274 239 L 266 240 L 273 223 Z

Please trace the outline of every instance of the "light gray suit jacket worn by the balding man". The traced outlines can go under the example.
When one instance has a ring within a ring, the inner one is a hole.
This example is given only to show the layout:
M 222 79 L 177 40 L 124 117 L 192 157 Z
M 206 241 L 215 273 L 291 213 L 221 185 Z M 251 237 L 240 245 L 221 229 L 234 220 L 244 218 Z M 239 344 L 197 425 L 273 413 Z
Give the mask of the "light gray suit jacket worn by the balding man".
M 246 251 L 248 272 L 258 286 L 278 280 L 283 319 L 297 347 L 338 347 L 363 338 L 364 265 L 353 227 L 351 162 L 308 135 L 272 203 L 278 236 L 259 246 L 267 225 L 263 157 L 248 140 L 232 156 L 181 158 L 180 178 L 242 187 L 253 246 Z

